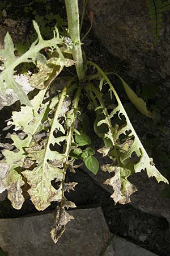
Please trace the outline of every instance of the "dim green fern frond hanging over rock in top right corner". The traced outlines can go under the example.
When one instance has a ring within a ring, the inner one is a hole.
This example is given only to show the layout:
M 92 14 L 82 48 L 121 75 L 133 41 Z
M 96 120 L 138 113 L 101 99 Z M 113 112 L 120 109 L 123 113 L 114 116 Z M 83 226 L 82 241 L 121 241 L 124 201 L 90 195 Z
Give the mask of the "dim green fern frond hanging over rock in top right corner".
M 146 0 L 146 3 L 147 3 L 148 11 L 149 11 L 152 26 L 153 26 L 154 42 L 156 44 L 158 42 L 160 30 L 163 26 L 162 14 L 164 11 L 170 10 L 170 1 L 169 0 Z

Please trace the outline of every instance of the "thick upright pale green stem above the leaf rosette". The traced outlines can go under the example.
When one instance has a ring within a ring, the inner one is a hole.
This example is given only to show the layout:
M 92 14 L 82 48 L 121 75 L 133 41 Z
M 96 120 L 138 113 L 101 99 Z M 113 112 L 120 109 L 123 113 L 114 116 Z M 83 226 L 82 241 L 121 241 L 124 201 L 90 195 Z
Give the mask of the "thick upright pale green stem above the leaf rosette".
M 74 43 L 73 59 L 76 61 L 76 73 L 79 81 L 84 82 L 86 81 L 86 75 L 84 72 L 82 48 L 80 43 L 78 0 L 65 0 L 65 5 L 67 11 L 69 35 Z

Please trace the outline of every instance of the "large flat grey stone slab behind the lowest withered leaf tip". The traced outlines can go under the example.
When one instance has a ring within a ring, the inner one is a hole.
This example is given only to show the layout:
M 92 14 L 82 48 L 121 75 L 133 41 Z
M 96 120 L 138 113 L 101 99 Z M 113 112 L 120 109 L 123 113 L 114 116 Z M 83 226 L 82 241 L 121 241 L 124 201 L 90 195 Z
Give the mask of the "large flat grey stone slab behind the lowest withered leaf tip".
M 97 256 L 111 240 L 101 208 L 69 211 L 75 220 L 55 244 L 50 237 L 53 213 L 0 220 L 0 247 L 8 256 Z M 111 246 L 110 254 L 114 250 Z

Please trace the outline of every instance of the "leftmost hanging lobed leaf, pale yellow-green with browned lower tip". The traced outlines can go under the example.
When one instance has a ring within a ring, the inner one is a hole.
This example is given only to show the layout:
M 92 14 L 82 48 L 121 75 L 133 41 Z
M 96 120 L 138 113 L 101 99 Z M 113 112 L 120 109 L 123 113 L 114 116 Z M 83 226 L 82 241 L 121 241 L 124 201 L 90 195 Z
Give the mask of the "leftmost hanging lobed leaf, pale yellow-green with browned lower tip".
M 9 166 L 9 170 L 5 178 L 1 181 L 3 186 L 8 191 L 8 199 L 12 203 L 12 207 L 20 209 L 24 202 L 22 195 L 22 185 L 24 181 L 20 172 L 16 170 L 22 170 L 25 160 L 25 150 L 30 146 L 32 142 L 32 135 L 39 131 L 41 127 L 41 120 L 44 117 L 44 113 L 38 113 L 41 102 L 44 98 L 45 90 L 41 90 L 33 100 L 31 100 L 32 107 L 22 106 L 20 112 L 12 112 L 12 121 L 8 122 L 8 125 L 15 125 L 15 130 L 23 128 L 24 132 L 28 136 L 24 139 L 20 139 L 18 135 L 11 135 L 11 139 L 14 141 L 15 147 L 18 152 L 4 150 L 3 155 L 6 157 L 6 162 Z M 44 106 L 44 110 L 45 110 Z

